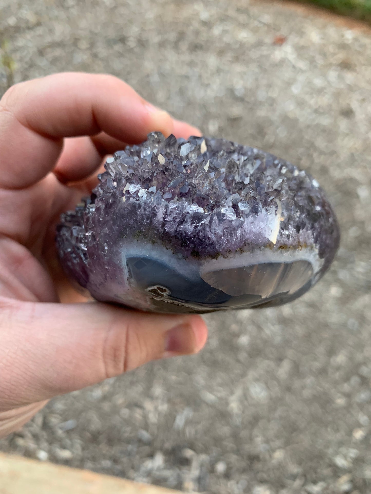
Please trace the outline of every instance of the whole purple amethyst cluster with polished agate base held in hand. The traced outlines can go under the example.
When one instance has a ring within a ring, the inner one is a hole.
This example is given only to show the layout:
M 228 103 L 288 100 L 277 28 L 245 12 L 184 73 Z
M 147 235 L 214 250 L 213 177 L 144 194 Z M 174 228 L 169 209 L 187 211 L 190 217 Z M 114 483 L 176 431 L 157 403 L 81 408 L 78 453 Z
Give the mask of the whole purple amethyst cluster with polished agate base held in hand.
M 96 300 L 152 312 L 280 305 L 337 250 L 317 180 L 258 149 L 151 133 L 105 168 L 57 232 L 66 273 Z

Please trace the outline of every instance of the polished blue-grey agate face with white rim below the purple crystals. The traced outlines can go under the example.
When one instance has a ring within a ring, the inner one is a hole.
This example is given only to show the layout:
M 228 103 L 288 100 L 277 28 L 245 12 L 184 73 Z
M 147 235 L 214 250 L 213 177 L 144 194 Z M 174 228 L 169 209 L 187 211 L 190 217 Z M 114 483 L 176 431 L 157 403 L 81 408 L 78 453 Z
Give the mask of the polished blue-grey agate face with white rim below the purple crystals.
M 310 255 L 308 260 L 293 260 L 292 253 L 278 252 L 272 253 L 268 262 L 261 253 L 240 254 L 233 261 L 221 258 L 189 262 L 172 259 L 173 254 L 169 259 L 166 251 L 151 245 L 143 248 L 142 253 L 136 245 L 131 247 L 122 252 L 122 265 L 132 287 L 146 293 L 158 310 L 165 310 L 164 302 L 173 305 L 166 307 L 169 312 L 282 304 L 307 291 L 314 276 L 315 260 L 309 260 Z M 128 293 L 119 298 L 117 301 L 123 303 L 132 296 Z

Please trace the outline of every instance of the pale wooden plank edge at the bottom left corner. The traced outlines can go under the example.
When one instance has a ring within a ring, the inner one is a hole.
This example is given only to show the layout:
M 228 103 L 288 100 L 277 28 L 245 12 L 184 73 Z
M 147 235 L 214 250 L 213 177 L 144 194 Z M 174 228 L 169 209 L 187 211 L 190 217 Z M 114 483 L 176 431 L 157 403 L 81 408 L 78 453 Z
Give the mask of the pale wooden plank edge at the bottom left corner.
M 0 494 L 176 494 L 53 463 L 0 453 Z

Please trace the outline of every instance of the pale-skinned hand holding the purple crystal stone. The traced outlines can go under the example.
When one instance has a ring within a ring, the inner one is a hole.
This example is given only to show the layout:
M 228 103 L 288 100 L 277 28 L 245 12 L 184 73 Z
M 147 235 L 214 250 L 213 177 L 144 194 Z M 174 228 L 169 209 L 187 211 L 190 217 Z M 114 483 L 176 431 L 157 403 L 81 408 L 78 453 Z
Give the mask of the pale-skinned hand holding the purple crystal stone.
M 91 192 L 104 156 L 154 130 L 200 135 L 107 75 L 55 74 L 0 100 L 0 437 L 54 396 L 204 346 L 199 316 L 81 301 L 56 257 L 59 214 Z

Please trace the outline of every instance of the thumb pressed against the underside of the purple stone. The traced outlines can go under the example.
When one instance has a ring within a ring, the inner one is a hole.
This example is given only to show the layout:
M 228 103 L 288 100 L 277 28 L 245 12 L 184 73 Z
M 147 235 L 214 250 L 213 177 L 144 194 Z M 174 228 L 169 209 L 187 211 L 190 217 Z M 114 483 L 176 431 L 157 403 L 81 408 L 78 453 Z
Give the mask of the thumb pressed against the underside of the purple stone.
M 157 315 L 102 303 L 2 301 L 0 412 L 68 393 L 150 360 L 199 351 L 199 316 Z M 5 401 L 4 401 L 5 400 Z

